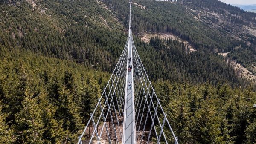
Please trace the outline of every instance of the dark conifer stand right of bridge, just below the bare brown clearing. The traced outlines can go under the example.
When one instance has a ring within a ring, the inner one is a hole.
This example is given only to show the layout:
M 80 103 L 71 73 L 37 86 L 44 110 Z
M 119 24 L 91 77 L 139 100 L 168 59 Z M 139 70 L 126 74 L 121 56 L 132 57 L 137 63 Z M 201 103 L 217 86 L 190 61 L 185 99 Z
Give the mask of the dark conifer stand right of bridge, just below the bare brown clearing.
M 246 83 L 218 54 L 189 52 L 178 40 L 161 40 L 160 37 L 152 37 L 149 44 L 154 48 L 145 43 L 137 44 L 137 48 L 139 54 L 143 55 L 141 59 L 151 78 L 193 83 L 210 81 L 212 85 L 227 82 L 236 86 Z

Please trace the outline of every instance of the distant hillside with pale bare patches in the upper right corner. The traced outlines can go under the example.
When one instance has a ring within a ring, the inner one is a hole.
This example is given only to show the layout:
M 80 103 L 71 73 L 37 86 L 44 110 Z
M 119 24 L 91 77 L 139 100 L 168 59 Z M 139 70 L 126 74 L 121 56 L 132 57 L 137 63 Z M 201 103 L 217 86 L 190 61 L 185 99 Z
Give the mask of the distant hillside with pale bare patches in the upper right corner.
M 237 7 L 216 0 L 186 0 L 183 3 L 189 7 L 193 17 L 207 23 L 209 27 L 218 30 L 223 35 L 244 44 L 228 51 L 226 61 L 235 60 L 256 74 L 256 14 L 245 12 Z

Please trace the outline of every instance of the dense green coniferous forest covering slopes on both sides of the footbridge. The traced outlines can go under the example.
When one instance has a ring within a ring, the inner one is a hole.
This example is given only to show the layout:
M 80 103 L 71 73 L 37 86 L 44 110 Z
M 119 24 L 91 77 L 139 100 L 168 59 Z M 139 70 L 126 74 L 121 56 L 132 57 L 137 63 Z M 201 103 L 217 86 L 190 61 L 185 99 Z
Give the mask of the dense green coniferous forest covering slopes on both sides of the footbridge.
M 216 30 L 186 10 L 207 8 L 237 26 L 256 14 L 217 0 L 136 3 L 146 9 L 133 5 L 134 43 L 179 143 L 256 143 L 255 82 L 225 61 L 256 74 L 256 37 L 235 39 L 228 25 Z M 126 0 L 1 0 L 0 144 L 76 143 L 125 46 L 127 20 Z M 145 43 L 143 32 L 171 32 L 197 51 L 157 36 Z

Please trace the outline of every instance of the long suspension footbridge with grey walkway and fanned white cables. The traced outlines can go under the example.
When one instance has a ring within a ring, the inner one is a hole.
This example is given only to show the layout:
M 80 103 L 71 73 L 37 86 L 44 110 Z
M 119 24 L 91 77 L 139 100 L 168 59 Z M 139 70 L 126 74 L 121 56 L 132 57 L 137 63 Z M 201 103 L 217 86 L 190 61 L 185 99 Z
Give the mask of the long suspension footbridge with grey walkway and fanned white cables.
M 77 144 L 178 144 L 134 45 L 128 38 Z

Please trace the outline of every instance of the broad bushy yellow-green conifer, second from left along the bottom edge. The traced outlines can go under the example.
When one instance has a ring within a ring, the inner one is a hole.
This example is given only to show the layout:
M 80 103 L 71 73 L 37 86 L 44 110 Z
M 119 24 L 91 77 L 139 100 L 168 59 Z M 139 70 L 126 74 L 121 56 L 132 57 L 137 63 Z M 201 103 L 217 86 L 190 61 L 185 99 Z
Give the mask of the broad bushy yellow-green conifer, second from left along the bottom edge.
M 38 97 L 25 89 L 22 109 L 15 114 L 17 138 L 21 143 L 43 144 L 45 127 L 42 119 L 42 109 L 38 104 Z

